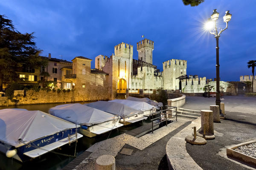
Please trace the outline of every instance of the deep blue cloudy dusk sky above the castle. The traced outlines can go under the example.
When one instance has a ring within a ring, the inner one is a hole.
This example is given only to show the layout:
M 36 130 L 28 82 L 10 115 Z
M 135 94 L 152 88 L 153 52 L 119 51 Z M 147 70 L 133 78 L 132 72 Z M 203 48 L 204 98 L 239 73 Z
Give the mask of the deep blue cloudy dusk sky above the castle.
M 187 60 L 187 74 L 214 78 L 216 41 L 204 30 L 213 9 L 220 13 L 218 26 L 225 28 L 223 16 L 232 19 L 219 40 L 220 77 L 239 81 L 252 75 L 247 61 L 256 60 L 256 0 L 205 0 L 199 6 L 185 6 L 182 0 L 1 0 L 0 14 L 13 21 L 21 33 L 35 32 L 42 56 L 71 61 L 76 56 L 108 57 L 114 46 L 134 45 L 141 35 L 154 41 L 153 64 L 163 71 L 169 59 Z

